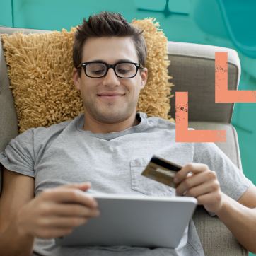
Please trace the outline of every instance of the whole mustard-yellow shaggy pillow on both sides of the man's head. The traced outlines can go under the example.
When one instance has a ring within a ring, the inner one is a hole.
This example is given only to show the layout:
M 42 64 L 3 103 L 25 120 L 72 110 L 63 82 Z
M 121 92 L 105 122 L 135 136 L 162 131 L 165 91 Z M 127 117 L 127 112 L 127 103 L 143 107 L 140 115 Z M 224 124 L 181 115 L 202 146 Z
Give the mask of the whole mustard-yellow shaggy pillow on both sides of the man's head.
M 170 122 L 170 87 L 168 80 L 167 38 L 156 19 L 132 21 L 144 29 L 148 50 L 146 68 L 149 78 L 141 90 L 136 111 Z M 42 34 L 13 33 L 1 35 L 8 76 L 18 115 L 19 132 L 36 127 L 50 127 L 72 120 L 83 112 L 81 94 L 72 78 L 72 47 L 76 28 L 67 32 Z

